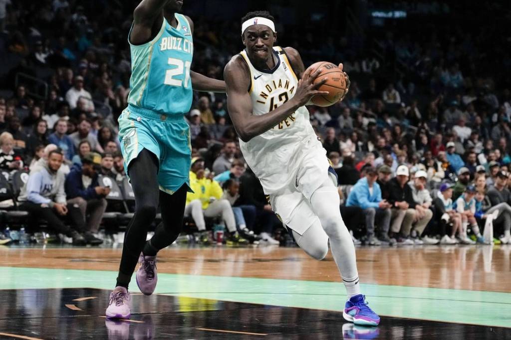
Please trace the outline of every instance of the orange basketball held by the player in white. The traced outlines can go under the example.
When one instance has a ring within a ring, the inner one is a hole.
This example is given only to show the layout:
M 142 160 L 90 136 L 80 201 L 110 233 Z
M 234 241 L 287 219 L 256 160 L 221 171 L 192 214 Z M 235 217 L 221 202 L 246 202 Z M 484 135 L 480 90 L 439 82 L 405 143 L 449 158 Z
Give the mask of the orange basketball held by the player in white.
M 309 66 L 313 74 L 316 69 L 322 68 L 321 73 L 314 80 L 314 84 L 327 78 L 327 82 L 321 85 L 319 91 L 328 91 L 329 94 L 315 95 L 312 97 L 312 103 L 317 106 L 330 106 L 337 103 L 346 92 L 346 79 L 341 69 L 337 65 L 328 61 L 319 61 Z

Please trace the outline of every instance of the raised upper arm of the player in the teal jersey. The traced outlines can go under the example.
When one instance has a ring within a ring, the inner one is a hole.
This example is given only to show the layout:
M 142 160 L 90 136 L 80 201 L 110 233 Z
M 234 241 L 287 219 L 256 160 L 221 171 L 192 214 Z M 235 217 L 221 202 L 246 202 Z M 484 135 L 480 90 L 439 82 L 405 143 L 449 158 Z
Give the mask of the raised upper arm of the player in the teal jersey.
M 133 12 L 133 28 L 129 41 L 142 45 L 151 41 L 163 22 L 163 8 L 167 0 L 142 0 Z

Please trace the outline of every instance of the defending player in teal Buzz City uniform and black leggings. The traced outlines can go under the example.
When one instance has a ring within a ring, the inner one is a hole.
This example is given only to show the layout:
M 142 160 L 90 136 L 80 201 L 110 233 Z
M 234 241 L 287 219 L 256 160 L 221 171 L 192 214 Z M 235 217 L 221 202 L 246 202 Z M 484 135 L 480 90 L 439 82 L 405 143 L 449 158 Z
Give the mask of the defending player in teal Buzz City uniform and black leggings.
M 156 253 L 177 238 L 189 190 L 190 129 L 184 114 L 194 90 L 225 92 L 223 81 L 190 70 L 193 22 L 177 12 L 182 0 L 142 0 L 134 11 L 131 91 L 119 117 L 124 167 L 135 194 L 135 214 L 126 230 L 117 285 L 106 317 L 130 318 L 128 284 L 140 262 L 136 282 L 151 295 L 156 286 Z M 158 202 L 162 222 L 146 242 Z

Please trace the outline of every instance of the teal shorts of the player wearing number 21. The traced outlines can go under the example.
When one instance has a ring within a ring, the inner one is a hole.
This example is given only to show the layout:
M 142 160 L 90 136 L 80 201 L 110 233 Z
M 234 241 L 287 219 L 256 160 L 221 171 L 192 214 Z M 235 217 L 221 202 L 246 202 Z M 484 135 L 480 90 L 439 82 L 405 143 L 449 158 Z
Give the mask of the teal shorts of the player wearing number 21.
M 160 190 L 172 195 L 185 183 L 190 187 L 192 147 L 183 115 L 163 115 L 128 105 L 119 116 L 119 140 L 127 175 L 131 161 L 147 149 L 159 160 Z

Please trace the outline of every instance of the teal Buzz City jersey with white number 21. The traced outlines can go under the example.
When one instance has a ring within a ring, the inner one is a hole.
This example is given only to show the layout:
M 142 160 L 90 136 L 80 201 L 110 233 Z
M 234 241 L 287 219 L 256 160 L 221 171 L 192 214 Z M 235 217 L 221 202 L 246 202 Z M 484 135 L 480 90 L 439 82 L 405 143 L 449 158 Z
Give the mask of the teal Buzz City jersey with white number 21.
M 142 45 L 130 42 L 131 91 L 128 103 L 165 115 L 187 113 L 193 98 L 190 80 L 192 31 L 184 15 L 176 13 L 175 16 L 177 28 L 164 18 L 153 40 Z

